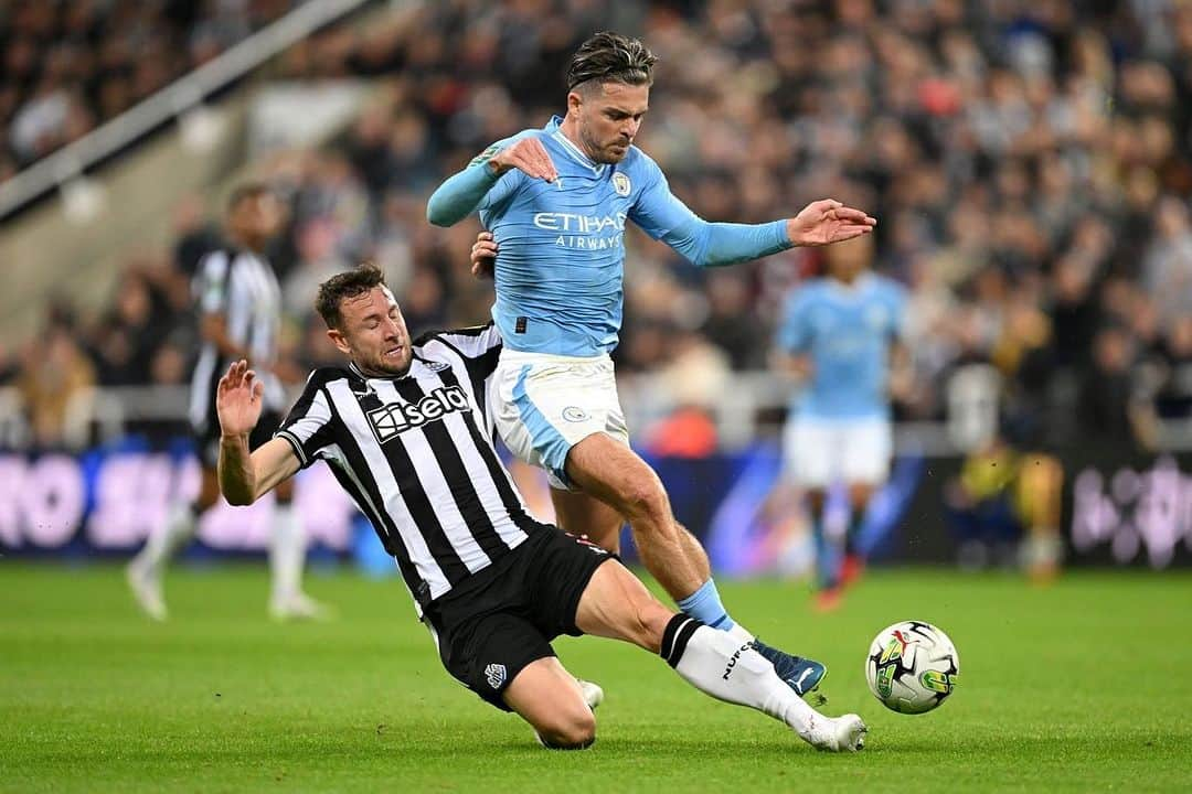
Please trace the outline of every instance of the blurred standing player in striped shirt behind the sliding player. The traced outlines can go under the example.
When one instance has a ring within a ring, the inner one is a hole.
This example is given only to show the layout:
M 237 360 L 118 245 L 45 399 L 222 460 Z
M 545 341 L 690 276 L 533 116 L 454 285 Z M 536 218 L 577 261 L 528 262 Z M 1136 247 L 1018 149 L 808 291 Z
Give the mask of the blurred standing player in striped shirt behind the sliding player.
M 280 425 L 285 409 L 285 392 L 279 377 L 283 368 L 278 361 L 281 289 L 265 251 L 281 220 L 281 205 L 266 186 L 238 187 L 228 201 L 229 246 L 206 254 L 199 262 L 195 293 L 201 313 L 203 349 L 191 383 L 190 417 L 203 481 L 198 498 L 176 504 L 166 525 L 150 534 L 128 568 L 137 604 L 155 620 L 164 620 L 168 614 L 162 595 L 166 567 L 194 536 L 199 515 L 219 498 L 216 385 L 232 361 L 252 362 L 265 388 L 265 413 L 253 433 L 252 445 L 256 448 L 268 440 Z M 306 534 L 292 500 L 292 482 L 278 488 L 269 543 L 273 583 L 268 605 L 269 614 L 277 619 L 313 618 L 325 612 L 302 590 Z

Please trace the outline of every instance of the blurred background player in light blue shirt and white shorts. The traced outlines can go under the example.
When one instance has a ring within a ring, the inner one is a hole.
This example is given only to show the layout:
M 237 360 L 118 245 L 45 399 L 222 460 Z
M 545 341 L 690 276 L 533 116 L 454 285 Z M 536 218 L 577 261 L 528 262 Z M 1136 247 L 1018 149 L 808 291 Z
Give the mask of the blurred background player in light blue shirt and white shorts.
M 890 362 L 902 357 L 906 293 L 868 270 L 870 256 L 869 239 L 831 249 L 828 276 L 788 296 L 776 340 L 783 363 L 805 379 L 783 449 L 787 477 L 807 493 L 821 609 L 834 608 L 840 588 L 859 573 L 853 542 L 893 451 Z M 824 505 L 836 483 L 848 488 L 851 518 L 833 533 Z

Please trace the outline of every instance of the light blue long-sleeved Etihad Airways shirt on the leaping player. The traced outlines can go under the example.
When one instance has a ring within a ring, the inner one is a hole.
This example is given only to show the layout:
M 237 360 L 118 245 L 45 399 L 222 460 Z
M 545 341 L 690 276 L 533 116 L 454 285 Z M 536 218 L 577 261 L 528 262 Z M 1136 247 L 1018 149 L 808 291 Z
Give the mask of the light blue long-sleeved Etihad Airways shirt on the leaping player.
M 492 319 L 507 348 L 598 356 L 621 330 L 625 225 L 631 221 L 699 265 L 731 264 L 790 248 L 786 221 L 710 224 L 675 198 L 662 169 L 637 146 L 620 163 L 592 162 L 559 131 L 554 117 L 489 146 L 430 198 L 427 215 L 451 225 L 473 208 L 499 246 Z M 535 136 L 559 179 L 513 169 L 483 183 L 496 151 Z M 479 205 L 468 196 L 486 190 Z

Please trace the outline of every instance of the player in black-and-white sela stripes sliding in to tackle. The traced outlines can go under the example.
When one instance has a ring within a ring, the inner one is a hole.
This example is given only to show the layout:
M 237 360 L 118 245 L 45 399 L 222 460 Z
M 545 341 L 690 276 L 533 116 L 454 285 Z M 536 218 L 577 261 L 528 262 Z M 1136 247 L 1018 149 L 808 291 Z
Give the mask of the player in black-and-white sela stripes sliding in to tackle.
M 820 750 L 863 746 L 859 717 L 818 713 L 749 643 L 675 614 L 611 554 L 527 513 L 492 446 L 496 327 L 411 340 L 371 265 L 323 282 L 318 312 L 348 361 L 311 373 L 281 430 L 252 454 L 261 383 L 243 361 L 219 381 L 229 501 L 252 504 L 325 461 L 397 561 L 447 671 L 548 748 L 589 746 L 603 696 L 555 657 L 551 640 L 564 633 L 658 654 L 701 692 L 769 714 Z

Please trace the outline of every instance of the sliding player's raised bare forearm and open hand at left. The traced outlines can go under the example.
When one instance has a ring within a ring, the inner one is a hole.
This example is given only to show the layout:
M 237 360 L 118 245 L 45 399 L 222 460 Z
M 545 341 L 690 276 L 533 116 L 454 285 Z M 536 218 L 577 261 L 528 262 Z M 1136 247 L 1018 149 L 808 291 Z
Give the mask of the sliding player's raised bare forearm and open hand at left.
M 252 505 L 299 468 L 293 448 L 280 438 L 249 454 L 248 436 L 261 418 L 263 390 L 244 360 L 234 362 L 216 387 L 219 490 L 232 505 Z

